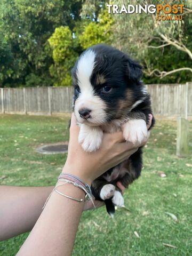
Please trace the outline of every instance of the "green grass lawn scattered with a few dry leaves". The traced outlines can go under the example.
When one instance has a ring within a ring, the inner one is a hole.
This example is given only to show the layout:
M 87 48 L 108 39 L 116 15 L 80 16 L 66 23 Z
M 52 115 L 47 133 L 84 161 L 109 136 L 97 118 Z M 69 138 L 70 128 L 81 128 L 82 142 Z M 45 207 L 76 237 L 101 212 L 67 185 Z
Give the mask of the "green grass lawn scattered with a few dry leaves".
M 34 149 L 42 143 L 68 140 L 68 119 L 0 115 L 1 185 L 54 185 L 66 155 L 41 155 Z M 124 194 L 130 211 L 118 209 L 114 219 L 105 207 L 84 212 L 73 255 L 192 255 L 192 122 L 190 157 L 175 156 L 175 137 L 175 121 L 157 120 L 144 150 L 142 175 Z M 159 177 L 161 171 L 165 178 Z M 15 255 L 27 235 L 0 242 L 0 255 Z

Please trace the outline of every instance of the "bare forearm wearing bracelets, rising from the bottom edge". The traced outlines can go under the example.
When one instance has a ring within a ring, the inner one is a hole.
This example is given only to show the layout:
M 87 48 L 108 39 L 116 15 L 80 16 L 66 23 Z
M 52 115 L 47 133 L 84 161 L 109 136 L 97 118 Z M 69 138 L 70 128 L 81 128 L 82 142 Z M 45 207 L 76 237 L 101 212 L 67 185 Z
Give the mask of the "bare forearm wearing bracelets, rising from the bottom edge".
M 85 197 L 83 190 L 71 184 L 58 190 L 74 198 Z M 54 191 L 17 255 L 71 255 L 83 206 L 84 201 L 76 202 Z

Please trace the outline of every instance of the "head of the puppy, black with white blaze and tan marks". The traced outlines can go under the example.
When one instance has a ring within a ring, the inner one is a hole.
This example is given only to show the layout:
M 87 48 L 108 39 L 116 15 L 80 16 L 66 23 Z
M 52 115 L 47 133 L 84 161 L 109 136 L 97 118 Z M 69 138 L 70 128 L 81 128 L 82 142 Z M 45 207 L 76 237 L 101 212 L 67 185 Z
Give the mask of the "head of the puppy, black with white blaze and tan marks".
M 83 52 L 72 70 L 77 122 L 98 126 L 125 116 L 140 98 L 141 69 L 107 45 Z

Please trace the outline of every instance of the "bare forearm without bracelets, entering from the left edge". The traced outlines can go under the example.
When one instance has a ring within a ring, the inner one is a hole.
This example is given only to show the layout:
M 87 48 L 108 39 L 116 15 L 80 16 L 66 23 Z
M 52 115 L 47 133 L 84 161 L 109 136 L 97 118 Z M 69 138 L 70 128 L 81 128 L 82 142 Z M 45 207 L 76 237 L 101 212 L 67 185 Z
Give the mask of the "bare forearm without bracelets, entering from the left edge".
M 0 241 L 31 230 L 52 189 L 0 186 Z

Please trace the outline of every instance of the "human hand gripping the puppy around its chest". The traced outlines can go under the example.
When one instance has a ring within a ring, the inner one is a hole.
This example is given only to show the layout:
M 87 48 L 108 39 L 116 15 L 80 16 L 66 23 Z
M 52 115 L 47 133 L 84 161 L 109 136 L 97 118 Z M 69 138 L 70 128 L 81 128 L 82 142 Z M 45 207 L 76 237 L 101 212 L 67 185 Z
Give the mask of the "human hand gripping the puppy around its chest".
M 152 115 L 149 116 L 148 129 L 151 125 Z M 145 145 L 149 138 L 143 139 L 140 145 L 125 142 L 122 132 L 104 133 L 101 148 L 92 153 L 87 153 L 78 143 L 79 126 L 76 124 L 74 114 L 71 117 L 70 139 L 68 157 L 63 172 L 71 173 L 89 183 L 98 178 L 111 167 L 129 158 L 138 147 Z

